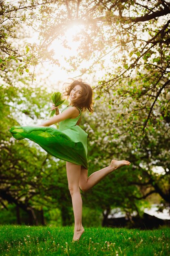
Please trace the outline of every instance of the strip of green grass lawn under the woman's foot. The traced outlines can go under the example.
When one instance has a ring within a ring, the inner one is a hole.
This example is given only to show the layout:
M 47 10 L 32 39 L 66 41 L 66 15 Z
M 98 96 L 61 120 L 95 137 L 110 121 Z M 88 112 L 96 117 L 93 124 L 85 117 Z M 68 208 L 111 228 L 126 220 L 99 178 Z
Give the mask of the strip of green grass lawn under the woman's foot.
M 170 229 L 85 228 L 72 243 L 73 227 L 0 226 L 0 255 L 168 256 Z

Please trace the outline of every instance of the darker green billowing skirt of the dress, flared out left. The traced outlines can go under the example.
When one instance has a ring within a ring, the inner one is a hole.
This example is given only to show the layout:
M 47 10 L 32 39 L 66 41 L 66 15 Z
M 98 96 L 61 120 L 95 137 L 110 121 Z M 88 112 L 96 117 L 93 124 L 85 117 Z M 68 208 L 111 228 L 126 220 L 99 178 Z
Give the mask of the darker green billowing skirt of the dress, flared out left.
M 82 142 L 74 142 L 64 132 L 56 128 L 13 126 L 9 131 L 15 139 L 31 139 L 50 155 L 88 169 L 86 150 Z

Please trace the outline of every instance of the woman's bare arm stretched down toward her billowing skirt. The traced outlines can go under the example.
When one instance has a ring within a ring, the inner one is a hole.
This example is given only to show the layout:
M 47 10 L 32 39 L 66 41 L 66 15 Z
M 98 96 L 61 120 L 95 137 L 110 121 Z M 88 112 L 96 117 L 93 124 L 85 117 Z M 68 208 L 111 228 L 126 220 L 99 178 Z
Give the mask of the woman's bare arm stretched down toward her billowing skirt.
M 75 107 L 68 108 L 68 109 L 64 110 L 61 114 L 59 114 L 59 115 L 57 115 L 55 117 L 52 117 L 50 120 L 45 121 L 44 123 L 42 123 L 39 126 L 51 126 L 52 124 L 59 123 L 60 121 L 63 121 L 65 119 L 75 118 L 75 115 L 78 112 L 79 112 L 79 110 L 77 110 L 77 108 L 75 108 Z M 78 115 L 79 115 L 79 113 L 78 113 Z

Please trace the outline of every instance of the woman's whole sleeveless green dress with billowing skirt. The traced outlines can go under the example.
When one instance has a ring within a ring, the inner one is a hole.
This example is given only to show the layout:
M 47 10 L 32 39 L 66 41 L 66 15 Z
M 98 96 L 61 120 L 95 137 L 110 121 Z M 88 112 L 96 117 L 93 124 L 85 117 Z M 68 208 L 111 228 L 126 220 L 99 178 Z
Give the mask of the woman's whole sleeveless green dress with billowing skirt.
M 68 106 L 64 110 L 70 107 L 72 106 Z M 82 165 L 87 169 L 88 134 L 76 125 L 82 114 L 82 110 L 79 109 L 79 111 L 78 117 L 60 121 L 59 129 L 50 126 L 13 126 L 9 131 L 15 139 L 31 139 L 50 155 Z

